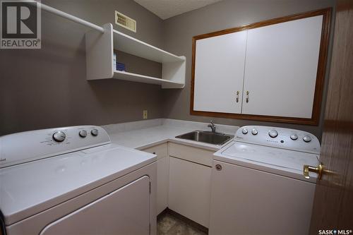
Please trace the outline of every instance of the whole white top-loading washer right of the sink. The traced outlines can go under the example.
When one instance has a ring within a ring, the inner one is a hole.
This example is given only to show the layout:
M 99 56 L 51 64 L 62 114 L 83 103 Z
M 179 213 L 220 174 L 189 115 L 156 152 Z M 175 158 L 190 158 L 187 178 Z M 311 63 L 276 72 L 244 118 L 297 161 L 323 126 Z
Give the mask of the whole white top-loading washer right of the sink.
M 320 143 L 304 131 L 239 128 L 213 160 L 210 234 L 309 234 Z

